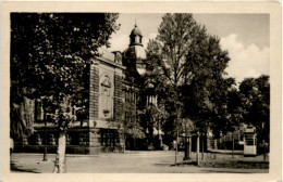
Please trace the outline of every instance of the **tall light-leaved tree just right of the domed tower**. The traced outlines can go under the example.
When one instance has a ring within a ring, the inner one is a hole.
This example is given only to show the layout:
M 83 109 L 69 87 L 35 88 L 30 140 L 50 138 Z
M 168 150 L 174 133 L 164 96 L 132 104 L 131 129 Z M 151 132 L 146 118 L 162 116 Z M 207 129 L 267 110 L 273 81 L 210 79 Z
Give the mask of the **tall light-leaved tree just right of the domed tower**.
M 150 74 L 147 78 L 153 80 L 156 93 L 164 100 L 171 115 L 167 128 L 175 130 L 183 115 L 180 89 L 192 78 L 186 69 L 186 56 L 192 42 L 197 36 L 206 37 L 206 30 L 197 25 L 192 14 L 168 13 L 162 17 L 158 32 L 157 39 L 148 43 Z

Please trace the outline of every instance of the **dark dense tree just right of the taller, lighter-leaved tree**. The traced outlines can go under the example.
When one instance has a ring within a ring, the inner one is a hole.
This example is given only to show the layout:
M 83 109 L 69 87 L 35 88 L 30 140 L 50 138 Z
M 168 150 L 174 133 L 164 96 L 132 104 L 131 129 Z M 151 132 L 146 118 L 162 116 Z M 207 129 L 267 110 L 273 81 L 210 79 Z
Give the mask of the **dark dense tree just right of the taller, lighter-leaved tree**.
M 229 126 L 226 122 L 226 98 L 229 89 L 235 83 L 233 78 L 224 78 L 224 69 L 230 57 L 220 47 L 217 37 L 198 37 L 192 42 L 186 72 L 192 79 L 184 87 L 186 114 L 197 121 L 200 132 L 213 123 L 218 127 Z M 222 122 L 222 123 L 220 123 Z M 219 130 L 220 128 L 218 128 Z

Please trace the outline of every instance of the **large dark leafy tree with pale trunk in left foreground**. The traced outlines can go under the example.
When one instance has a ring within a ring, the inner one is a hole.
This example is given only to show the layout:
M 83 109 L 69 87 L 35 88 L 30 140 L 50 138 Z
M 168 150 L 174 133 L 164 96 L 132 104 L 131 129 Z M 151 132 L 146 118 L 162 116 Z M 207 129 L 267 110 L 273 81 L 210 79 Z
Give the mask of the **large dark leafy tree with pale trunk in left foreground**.
M 64 171 L 65 132 L 75 119 L 71 114 L 74 95 L 86 86 L 83 76 L 90 58 L 98 55 L 99 47 L 109 46 L 116 18 L 111 13 L 11 14 L 11 80 L 21 95 L 44 99 L 57 110 L 56 172 Z

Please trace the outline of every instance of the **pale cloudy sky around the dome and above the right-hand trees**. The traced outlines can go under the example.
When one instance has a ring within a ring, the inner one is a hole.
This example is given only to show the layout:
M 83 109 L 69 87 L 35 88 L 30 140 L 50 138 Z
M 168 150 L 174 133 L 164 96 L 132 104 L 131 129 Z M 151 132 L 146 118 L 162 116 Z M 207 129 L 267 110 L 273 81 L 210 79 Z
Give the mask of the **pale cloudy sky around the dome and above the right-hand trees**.
M 135 23 L 143 34 L 146 49 L 149 39 L 156 38 L 163 14 L 120 14 L 120 30 L 110 39 L 110 51 L 124 51 Z M 205 25 L 208 34 L 220 38 L 231 61 L 225 69 L 229 77 L 241 82 L 247 77 L 269 75 L 270 22 L 269 14 L 193 14 L 197 23 Z

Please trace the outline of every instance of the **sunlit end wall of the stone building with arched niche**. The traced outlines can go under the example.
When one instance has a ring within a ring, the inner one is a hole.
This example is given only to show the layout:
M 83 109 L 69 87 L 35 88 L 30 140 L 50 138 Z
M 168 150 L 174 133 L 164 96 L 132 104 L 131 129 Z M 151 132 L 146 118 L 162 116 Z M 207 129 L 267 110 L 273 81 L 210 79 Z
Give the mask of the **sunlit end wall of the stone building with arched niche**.
M 124 67 L 115 54 L 101 50 L 102 56 L 90 67 L 89 154 L 120 151 L 123 138 L 116 130 L 116 118 L 123 105 Z M 87 135 L 87 134 L 86 134 Z

